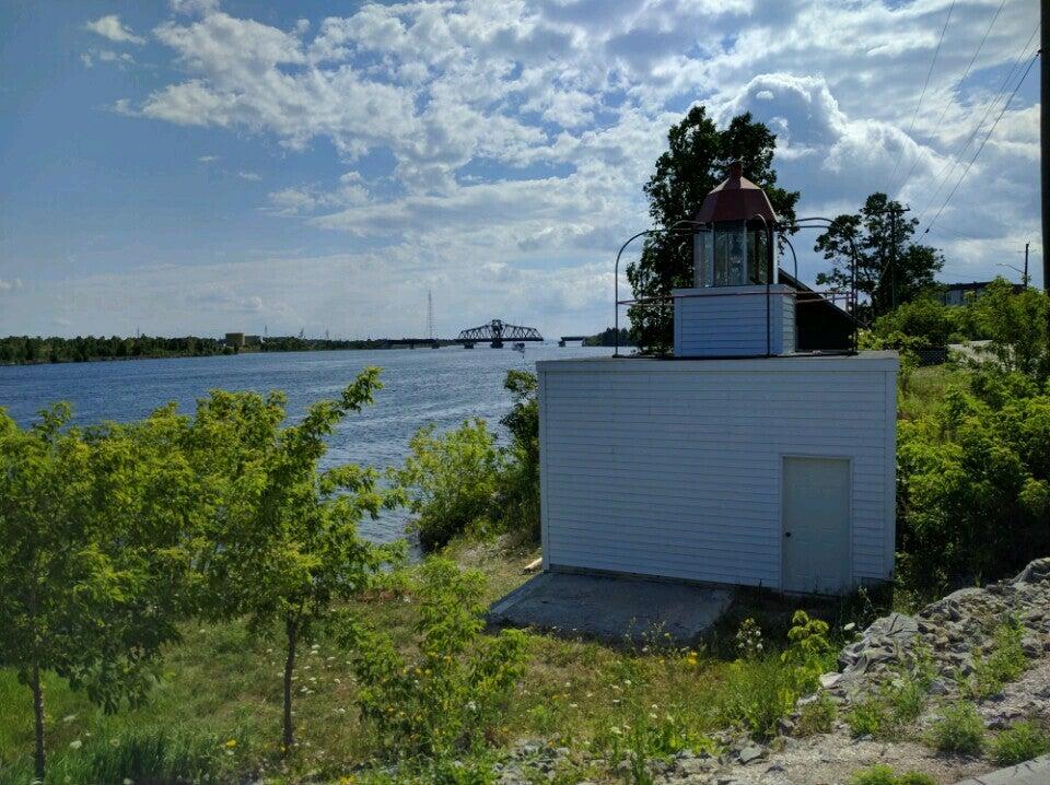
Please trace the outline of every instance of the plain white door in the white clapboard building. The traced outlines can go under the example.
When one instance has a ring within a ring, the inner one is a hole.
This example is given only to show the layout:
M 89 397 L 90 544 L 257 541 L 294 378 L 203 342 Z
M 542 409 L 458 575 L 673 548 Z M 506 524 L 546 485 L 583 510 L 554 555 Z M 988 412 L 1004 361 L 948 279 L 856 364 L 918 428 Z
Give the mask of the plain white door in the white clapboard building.
M 784 458 L 783 588 L 836 594 L 850 585 L 850 461 Z

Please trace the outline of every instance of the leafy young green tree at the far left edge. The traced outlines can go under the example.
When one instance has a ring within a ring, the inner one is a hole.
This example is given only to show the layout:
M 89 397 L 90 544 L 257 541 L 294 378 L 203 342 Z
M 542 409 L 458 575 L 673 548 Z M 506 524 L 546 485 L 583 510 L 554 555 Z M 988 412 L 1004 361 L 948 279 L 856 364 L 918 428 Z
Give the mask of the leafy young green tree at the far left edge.
M 189 607 L 183 532 L 197 494 L 168 448 L 174 410 L 89 432 L 69 418 L 56 405 L 21 430 L 0 410 L 0 665 L 32 692 L 39 781 L 43 673 L 106 711 L 137 702 Z

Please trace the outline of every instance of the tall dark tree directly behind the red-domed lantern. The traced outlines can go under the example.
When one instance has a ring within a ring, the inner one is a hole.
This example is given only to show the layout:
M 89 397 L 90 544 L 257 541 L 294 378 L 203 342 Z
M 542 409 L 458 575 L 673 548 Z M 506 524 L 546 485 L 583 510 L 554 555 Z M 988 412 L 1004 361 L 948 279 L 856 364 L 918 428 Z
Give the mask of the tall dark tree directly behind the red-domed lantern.
M 649 213 L 656 230 L 670 230 L 692 220 L 704 197 L 725 179 L 733 161 L 744 164 L 745 176 L 766 190 L 781 221 L 795 219 L 798 191 L 777 187 L 773 151 L 777 137 L 750 113 L 734 117 L 719 130 L 703 106 L 692 107 L 667 133 L 667 151 L 644 186 Z M 641 259 L 628 266 L 627 277 L 635 300 L 667 297 L 670 290 L 692 285 L 692 230 L 650 235 Z M 672 345 L 672 312 L 668 302 L 632 305 L 631 335 L 645 353 L 666 353 Z

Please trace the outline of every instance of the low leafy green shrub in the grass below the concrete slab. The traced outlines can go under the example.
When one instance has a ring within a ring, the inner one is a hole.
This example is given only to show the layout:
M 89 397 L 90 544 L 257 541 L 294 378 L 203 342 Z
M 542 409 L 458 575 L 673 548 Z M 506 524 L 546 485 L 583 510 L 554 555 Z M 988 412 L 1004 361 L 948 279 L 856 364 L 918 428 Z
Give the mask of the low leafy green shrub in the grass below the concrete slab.
M 440 758 L 482 746 L 523 672 L 527 638 L 516 630 L 485 636 L 483 577 L 432 558 L 417 587 L 418 654 L 387 633 L 358 629 L 359 704 L 387 752 Z

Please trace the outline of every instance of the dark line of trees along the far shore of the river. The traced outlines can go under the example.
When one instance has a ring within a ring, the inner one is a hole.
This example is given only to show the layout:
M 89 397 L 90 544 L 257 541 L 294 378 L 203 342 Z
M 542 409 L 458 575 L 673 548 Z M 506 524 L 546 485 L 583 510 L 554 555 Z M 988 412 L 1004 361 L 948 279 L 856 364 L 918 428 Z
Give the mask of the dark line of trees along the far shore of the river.
M 612 345 L 611 330 L 584 341 L 584 345 Z M 626 330 L 623 330 L 626 333 Z M 609 333 L 609 335 L 606 335 Z M 603 339 L 608 339 L 606 342 Z M 415 342 L 413 342 L 415 341 Z M 457 345 L 458 341 L 441 339 L 441 345 Z M 273 336 L 256 345 L 231 347 L 222 338 L 162 338 L 138 336 L 78 336 L 75 338 L 44 338 L 40 336 L 8 336 L 0 338 L 0 365 L 44 365 L 49 363 L 89 363 L 108 360 L 160 360 L 166 358 L 207 358 L 260 352 L 314 352 L 339 350 L 377 350 L 422 348 L 428 339 L 371 338 L 364 340 L 331 340 Z M 621 345 L 627 345 L 625 340 Z

